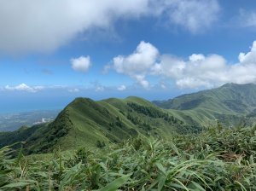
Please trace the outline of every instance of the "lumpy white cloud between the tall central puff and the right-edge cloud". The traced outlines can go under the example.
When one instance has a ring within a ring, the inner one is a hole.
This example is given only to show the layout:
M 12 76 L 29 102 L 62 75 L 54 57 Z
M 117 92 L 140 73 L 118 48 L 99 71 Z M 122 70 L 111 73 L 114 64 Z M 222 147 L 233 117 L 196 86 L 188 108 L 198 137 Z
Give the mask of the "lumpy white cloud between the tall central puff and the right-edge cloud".
M 181 88 L 209 86 L 220 79 L 220 72 L 226 68 L 226 61 L 220 55 L 190 55 L 185 61 L 172 55 L 163 55 L 152 69 L 154 75 L 172 78 Z

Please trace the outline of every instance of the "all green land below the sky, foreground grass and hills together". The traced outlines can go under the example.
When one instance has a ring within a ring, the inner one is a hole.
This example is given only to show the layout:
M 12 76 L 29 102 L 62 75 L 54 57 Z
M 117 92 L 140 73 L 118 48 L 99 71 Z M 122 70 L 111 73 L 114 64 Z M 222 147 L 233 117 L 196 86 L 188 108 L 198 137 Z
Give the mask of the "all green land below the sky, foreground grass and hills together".
M 256 190 L 254 84 L 155 103 L 77 98 L 0 132 L 0 190 Z

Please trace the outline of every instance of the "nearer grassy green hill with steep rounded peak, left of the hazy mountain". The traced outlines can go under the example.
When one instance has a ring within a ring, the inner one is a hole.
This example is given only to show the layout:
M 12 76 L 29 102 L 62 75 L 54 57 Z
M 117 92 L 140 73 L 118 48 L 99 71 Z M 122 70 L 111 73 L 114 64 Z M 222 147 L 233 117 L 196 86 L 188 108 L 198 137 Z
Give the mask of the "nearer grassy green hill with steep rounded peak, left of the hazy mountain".
M 103 101 L 77 98 L 52 123 L 0 134 L 0 142 L 1 146 L 26 142 L 27 153 L 49 153 L 59 147 L 101 148 L 138 135 L 168 138 L 177 132 L 201 130 L 199 125 L 190 125 L 138 97 Z

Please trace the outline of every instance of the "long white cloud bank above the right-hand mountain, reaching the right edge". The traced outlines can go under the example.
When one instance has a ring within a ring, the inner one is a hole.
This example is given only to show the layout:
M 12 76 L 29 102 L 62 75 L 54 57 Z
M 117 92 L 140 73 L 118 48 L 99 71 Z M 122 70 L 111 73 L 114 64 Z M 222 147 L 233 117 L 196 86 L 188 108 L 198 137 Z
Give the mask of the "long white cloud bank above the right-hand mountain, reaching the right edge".
M 172 78 L 180 88 L 214 87 L 219 84 L 256 82 L 256 42 L 247 54 L 240 53 L 239 62 L 230 65 L 221 55 L 193 54 L 188 60 L 164 55 L 154 74 Z

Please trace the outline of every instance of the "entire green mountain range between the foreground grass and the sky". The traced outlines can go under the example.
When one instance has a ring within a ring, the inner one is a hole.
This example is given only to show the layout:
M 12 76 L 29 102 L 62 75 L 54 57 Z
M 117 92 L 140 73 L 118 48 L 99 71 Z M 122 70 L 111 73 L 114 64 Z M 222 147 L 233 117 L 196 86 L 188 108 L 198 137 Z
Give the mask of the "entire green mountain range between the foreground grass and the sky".
M 225 84 L 168 101 L 77 98 L 53 122 L 0 133 L 0 148 L 21 141 L 26 142 L 26 153 L 103 147 L 137 135 L 170 138 L 197 133 L 217 120 L 225 126 L 249 125 L 255 116 L 255 84 Z

